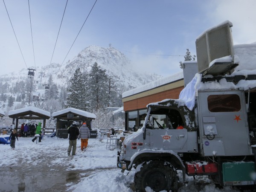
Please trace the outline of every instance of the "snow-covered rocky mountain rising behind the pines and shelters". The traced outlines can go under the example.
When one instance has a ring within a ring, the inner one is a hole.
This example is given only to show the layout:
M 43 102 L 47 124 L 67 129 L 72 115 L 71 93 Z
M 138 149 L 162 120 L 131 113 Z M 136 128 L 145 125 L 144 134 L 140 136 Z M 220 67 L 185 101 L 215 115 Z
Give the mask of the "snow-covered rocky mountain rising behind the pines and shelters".
M 41 105 L 47 93 L 45 84 L 48 84 L 50 75 L 52 75 L 52 82 L 57 84 L 60 93 L 61 86 L 67 88 L 70 85 L 70 79 L 73 77 L 77 67 L 82 72 L 88 73 L 95 62 L 102 69 L 105 69 L 109 76 L 112 76 L 112 79 L 116 82 L 119 94 L 161 78 L 161 76 L 156 74 L 143 74 L 142 72 L 135 71 L 131 66 L 131 61 L 122 52 L 113 47 L 90 46 L 79 52 L 73 60 L 65 64 L 52 63 L 37 67 L 34 71 L 33 81 L 28 79 L 28 70 L 25 68 L 0 76 L 0 111 L 8 114 L 10 110 L 23 108 L 28 105 Z M 34 66 L 28 66 L 28 68 L 35 69 Z M 22 98 L 23 95 L 29 92 L 29 89 L 31 90 L 32 86 L 26 87 L 28 82 L 33 82 L 33 87 L 35 87 L 31 92 L 30 104 Z M 5 99 L 1 99 L 1 97 Z M 8 107 L 11 97 L 14 103 L 11 107 Z M 22 98 L 22 100 L 19 98 Z M 53 108 L 53 105 L 56 105 L 54 108 L 61 107 L 60 103 L 51 102 L 54 101 L 44 102 L 44 107 Z M 11 123 L 11 120 L 5 118 L 4 121 L 0 121 L 0 125 L 8 125 Z

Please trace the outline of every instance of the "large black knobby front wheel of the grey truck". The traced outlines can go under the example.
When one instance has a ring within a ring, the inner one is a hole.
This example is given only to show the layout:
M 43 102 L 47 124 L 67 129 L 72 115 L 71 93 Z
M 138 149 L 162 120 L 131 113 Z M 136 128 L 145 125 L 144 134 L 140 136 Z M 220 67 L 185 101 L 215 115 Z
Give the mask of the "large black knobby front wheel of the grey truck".
M 149 186 L 155 192 L 177 191 L 179 178 L 172 165 L 163 161 L 144 162 L 137 166 L 134 184 L 137 192 L 145 192 Z

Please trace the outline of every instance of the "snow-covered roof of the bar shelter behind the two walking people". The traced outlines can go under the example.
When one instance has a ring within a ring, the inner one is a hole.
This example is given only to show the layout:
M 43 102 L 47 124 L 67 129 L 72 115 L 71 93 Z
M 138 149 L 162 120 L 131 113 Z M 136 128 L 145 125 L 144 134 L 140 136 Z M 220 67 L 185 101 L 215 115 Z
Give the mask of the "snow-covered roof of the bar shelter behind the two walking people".
M 83 117 L 87 117 L 87 118 L 91 118 L 91 119 L 96 118 L 95 114 L 89 113 L 87 111 L 82 111 L 82 110 L 76 109 L 76 108 L 66 108 L 61 111 L 56 111 L 56 112 L 52 113 L 52 117 L 56 118 L 56 117 L 66 116 L 68 113 L 73 113 L 75 115 L 83 116 Z

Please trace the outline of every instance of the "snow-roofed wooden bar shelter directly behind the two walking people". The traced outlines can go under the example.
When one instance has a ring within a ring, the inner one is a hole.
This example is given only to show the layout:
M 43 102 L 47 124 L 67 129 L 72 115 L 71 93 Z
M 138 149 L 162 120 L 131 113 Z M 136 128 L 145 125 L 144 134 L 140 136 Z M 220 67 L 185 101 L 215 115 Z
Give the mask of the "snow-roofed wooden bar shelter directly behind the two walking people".
M 52 117 L 57 119 L 56 129 L 61 129 L 69 127 L 73 121 L 87 122 L 87 125 L 91 126 L 90 122 L 96 115 L 76 108 L 66 108 L 52 113 Z

